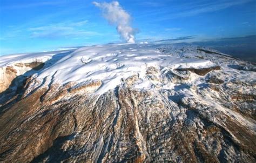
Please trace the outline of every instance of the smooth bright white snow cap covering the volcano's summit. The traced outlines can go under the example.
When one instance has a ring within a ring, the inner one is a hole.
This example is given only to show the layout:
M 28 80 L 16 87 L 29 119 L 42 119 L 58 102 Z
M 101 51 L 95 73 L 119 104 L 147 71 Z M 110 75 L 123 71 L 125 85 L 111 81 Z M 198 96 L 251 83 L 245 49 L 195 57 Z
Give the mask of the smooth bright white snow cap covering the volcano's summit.
M 159 51 L 163 45 L 159 44 L 112 44 L 86 46 L 65 55 L 54 52 L 30 53 L 14 56 L 2 56 L 0 66 L 14 65 L 14 63 L 30 63 L 36 59 L 46 63 L 45 69 L 33 74 L 34 78 L 52 78 L 53 83 L 66 84 L 68 82 L 83 83 L 100 80 L 102 86 L 98 92 L 114 89 L 121 83 L 122 78 L 138 74 L 140 87 L 145 85 L 148 67 L 165 69 L 200 69 L 215 66 L 210 60 L 199 58 L 185 58 L 183 53 L 175 55 L 175 50 L 169 53 Z M 192 49 L 190 49 L 192 50 Z M 63 53 L 67 51 L 58 51 Z M 55 62 L 53 63 L 53 57 Z M 16 60 L 15 60 L 16 59 Z M 47 60 L 47 62 L 46 62 Z M 14 65 L 15 66 L 15 65 Z M 149 83 L 147 83 L 149 84 Z M 138 83 L 139 85 L 139 83 Z

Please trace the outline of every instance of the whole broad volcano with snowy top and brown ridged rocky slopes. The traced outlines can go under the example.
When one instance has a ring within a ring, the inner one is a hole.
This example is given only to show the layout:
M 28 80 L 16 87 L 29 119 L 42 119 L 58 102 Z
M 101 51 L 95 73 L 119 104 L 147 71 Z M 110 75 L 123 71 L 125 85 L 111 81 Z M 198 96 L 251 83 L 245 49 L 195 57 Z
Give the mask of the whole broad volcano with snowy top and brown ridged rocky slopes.
M 256 68 L 192 45 L 0 57 L 1 162 L 256 162 Z

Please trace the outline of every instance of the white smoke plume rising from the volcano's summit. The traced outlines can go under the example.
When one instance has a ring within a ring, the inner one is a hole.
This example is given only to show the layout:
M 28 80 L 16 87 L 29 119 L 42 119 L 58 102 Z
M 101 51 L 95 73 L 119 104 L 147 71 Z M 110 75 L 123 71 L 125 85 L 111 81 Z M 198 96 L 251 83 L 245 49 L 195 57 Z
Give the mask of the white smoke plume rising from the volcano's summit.
M 102 10 L 103 16 L 110 24 L 117 26 L 121 38 L 125 39 L 127 43 L 135 43 L 134 30 L 130 26 L 131 17 L 117 1 L 110 3 L 93 2 L 93 4 Z

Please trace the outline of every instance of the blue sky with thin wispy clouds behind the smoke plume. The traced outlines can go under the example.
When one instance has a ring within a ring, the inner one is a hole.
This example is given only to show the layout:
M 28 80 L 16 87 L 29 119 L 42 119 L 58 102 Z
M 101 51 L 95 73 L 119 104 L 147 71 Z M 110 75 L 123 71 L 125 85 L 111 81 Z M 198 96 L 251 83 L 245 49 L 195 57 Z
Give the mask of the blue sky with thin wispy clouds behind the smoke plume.
M 118 2 L 132 17 L 137 42 L 256 35 L 255 0 Z M 0 21 L 0 55 L 122 42 L 116 28 L 87 0 L 0 0 Z

